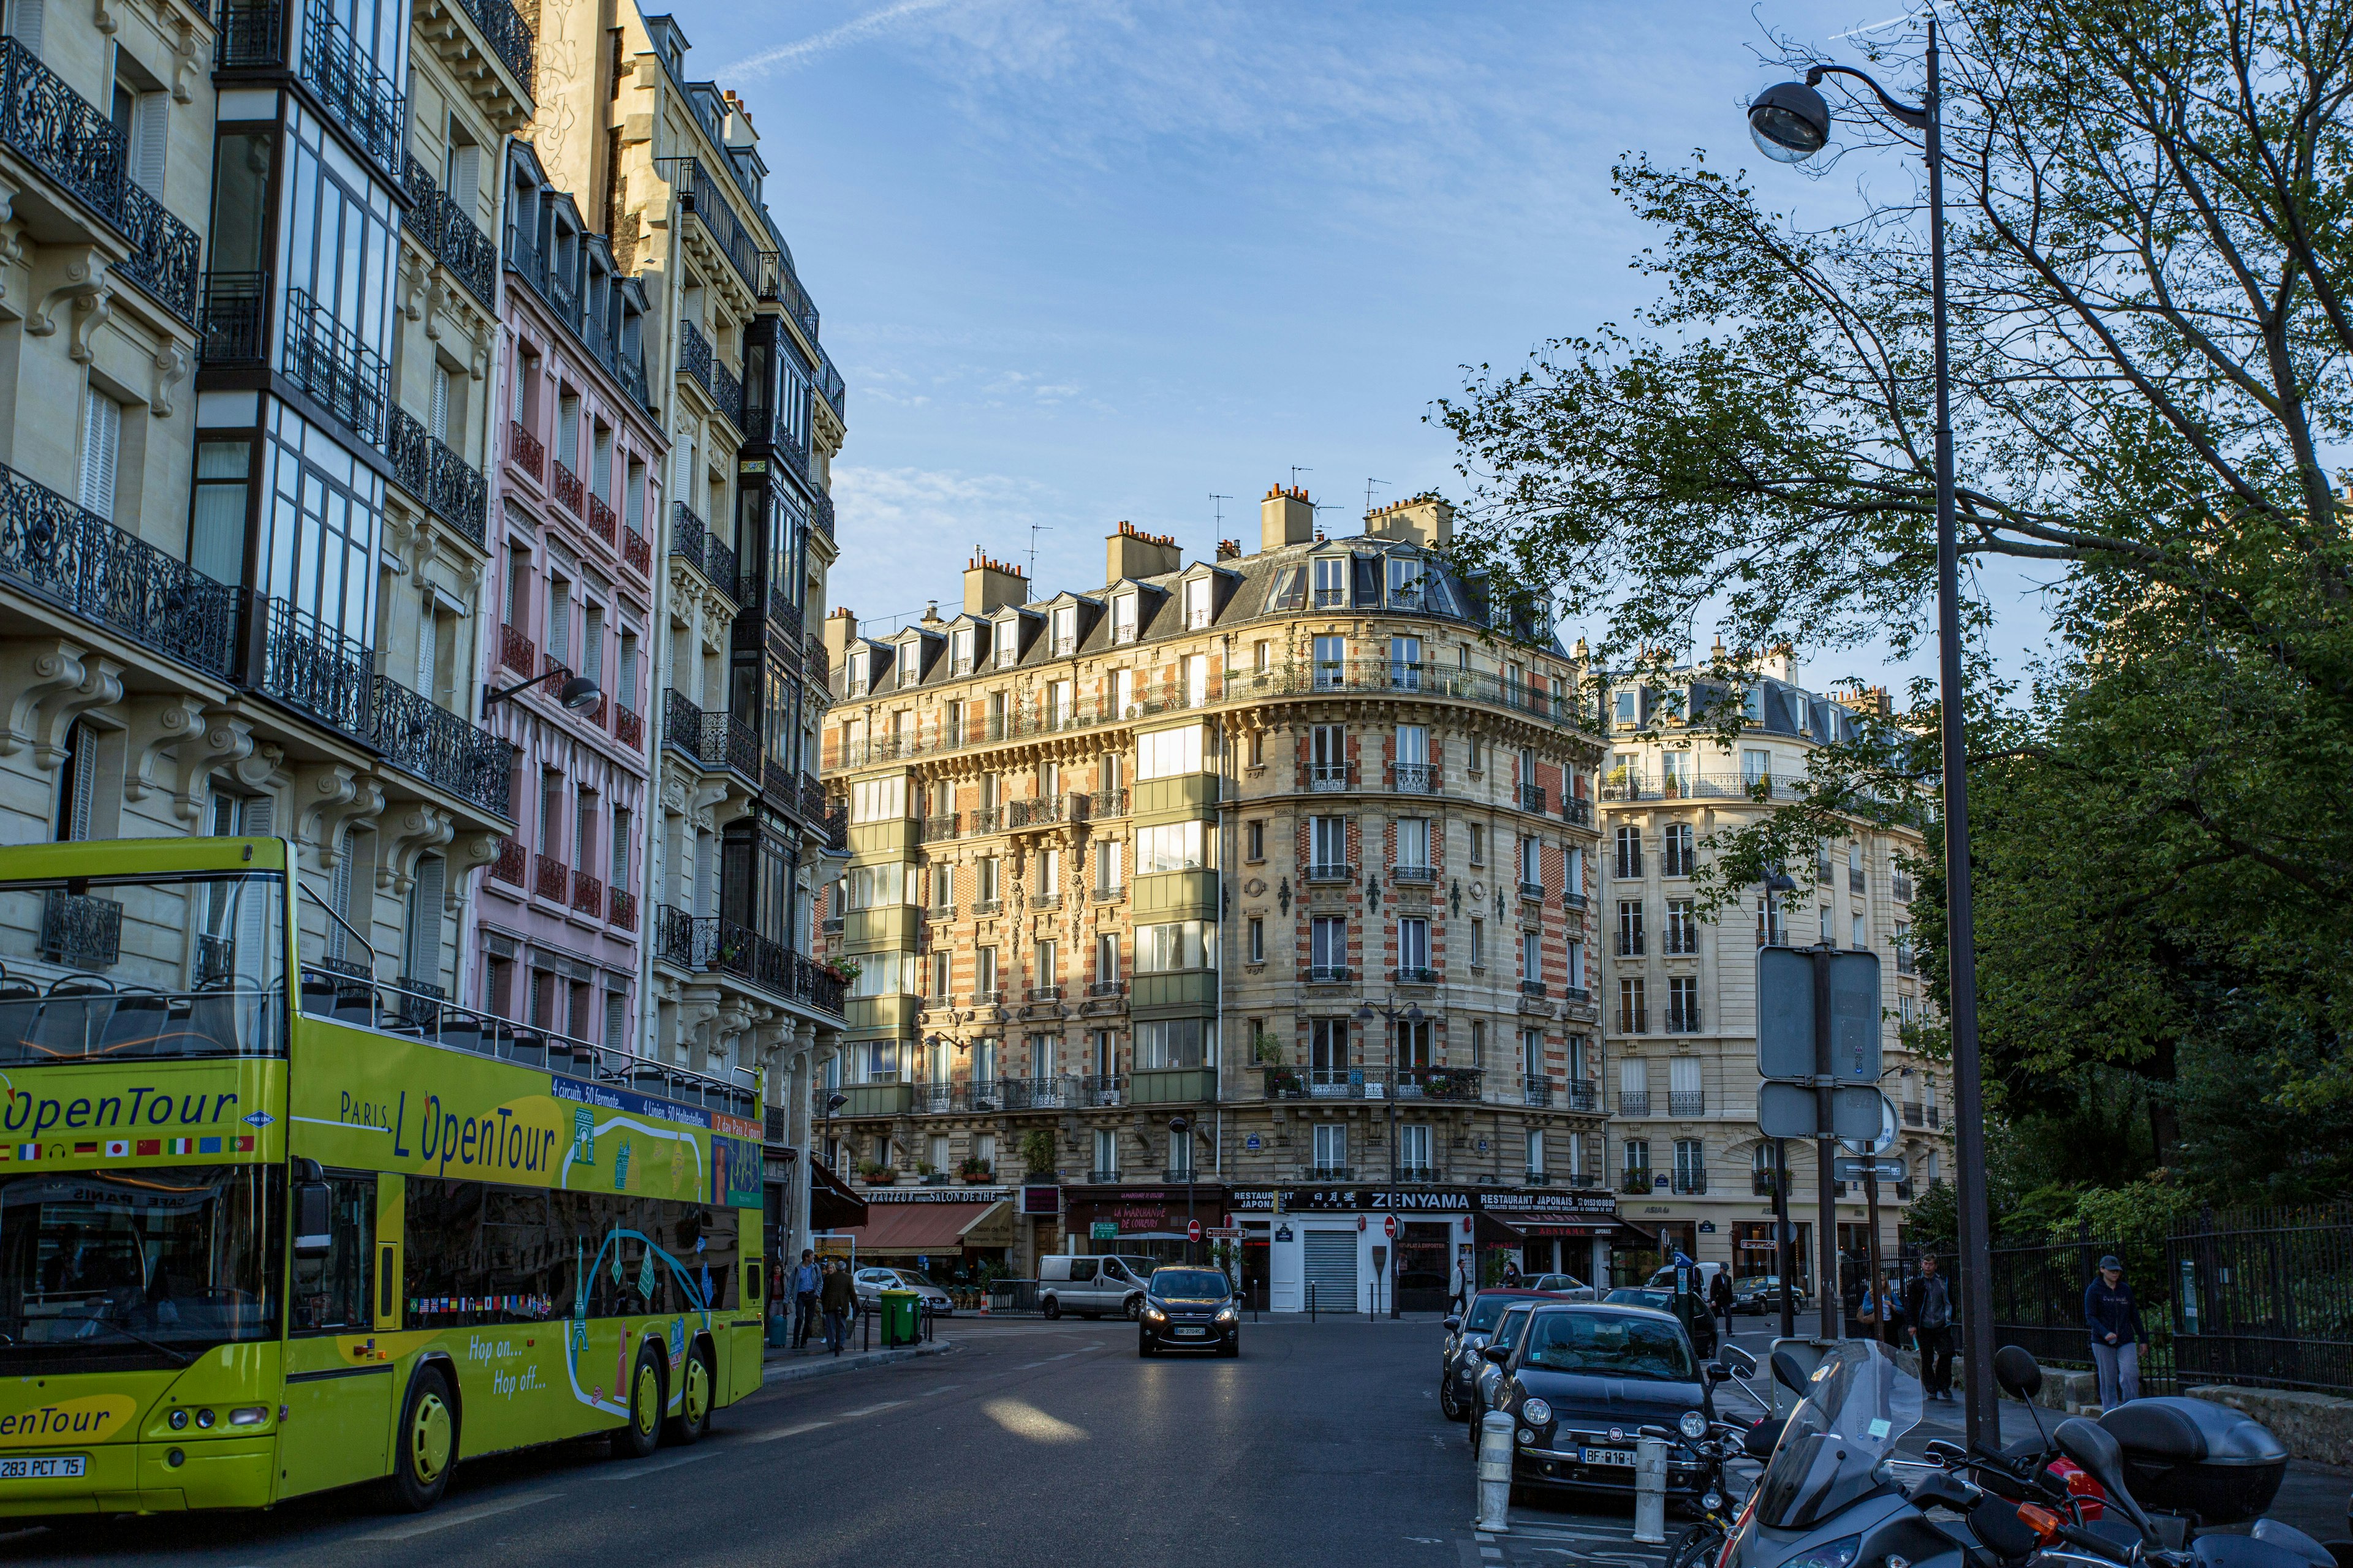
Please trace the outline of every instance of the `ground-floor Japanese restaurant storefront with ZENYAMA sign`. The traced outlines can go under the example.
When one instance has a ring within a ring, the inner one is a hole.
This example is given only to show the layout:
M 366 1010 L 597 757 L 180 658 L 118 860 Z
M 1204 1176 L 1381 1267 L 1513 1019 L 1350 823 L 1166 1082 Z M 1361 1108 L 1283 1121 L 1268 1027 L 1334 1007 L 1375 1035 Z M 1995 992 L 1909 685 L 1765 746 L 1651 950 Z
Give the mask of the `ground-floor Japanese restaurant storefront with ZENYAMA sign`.
M 1271 1312 L 1435 1312 L 1494 1255 L 1584 1279 L 1621 1229 L 1614 1194 L 1539 1187 L 1235 1187 L 1231 1208 Z

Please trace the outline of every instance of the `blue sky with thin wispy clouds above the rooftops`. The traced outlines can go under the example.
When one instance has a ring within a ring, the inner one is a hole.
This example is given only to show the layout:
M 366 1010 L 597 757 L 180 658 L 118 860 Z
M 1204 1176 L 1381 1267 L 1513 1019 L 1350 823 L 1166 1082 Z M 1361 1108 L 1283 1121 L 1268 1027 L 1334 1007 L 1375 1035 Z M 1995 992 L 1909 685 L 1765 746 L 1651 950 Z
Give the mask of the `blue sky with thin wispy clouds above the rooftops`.
M 1118 520 L 1212 555 L 1212 494 L 1249 543 L 1294 465 L 1334 531 L 1367 477 L 1374 501 L 1459 501 L 1424 416 L 1461 367 L 1647 296 L 1612 160 L 1760 165 L 1741 103 L 1781 75 L 1762 28 L 1826 42 L 1901 9 L 689 0 L 678 19 L 694 75 L 751 103 L 849 386 L 833 602 L 880 628 L 953 602 L 972 548 L 1026 562 L 1031 524 L 1042 592 L 1099 585 Z M 1765 179 L 1800 212 L 1852 200 Z M 1805 675 L 1887 675 L 1859 663 Z

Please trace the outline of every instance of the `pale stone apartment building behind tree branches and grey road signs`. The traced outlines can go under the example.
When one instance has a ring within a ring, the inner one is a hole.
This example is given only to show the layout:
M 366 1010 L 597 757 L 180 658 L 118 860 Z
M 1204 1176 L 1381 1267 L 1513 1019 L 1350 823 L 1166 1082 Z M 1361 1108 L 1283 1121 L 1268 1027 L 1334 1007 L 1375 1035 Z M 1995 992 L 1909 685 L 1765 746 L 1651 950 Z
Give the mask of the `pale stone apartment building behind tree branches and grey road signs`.
M 1880 1185 L 1880 1251 L 1894 1258 L 1904 1208 L 1951 1173 L 1944 1063 L 1906 1048 L 1904 1025 L 1922 1018 L 1913 971 L 1911 875 L 1918 832 L 1866 823 L 1824 842 L 1814 863 L 1791 865 L 1791 893 L 1751 889 L 1741 907 L 1694 914 L 1692 875 L 1727 835 L 1805 788 L 1807 755 L 1852 738 L 1857 708 L 1795 684 L 1786 651 L 1741 696 L 1737 745 L 1687 715 L 1729 701 L 1720 682 L 1680 672 L 1621 682 L 1605 703 L 1609 759 L 1600 780 L 1602 1030 L 1614 1070 L 1612 1180 L 1628 1218 L 1661 1246 L 1734 1274 L 1774 1272 L 1774 1140 L 1755 1124 L 1755 954 L 1765 945 L 1826 943 L 1880 954 L 1882 1093 L 1897 1107 L 1906 1180 Z M 1887 696 L 1864 701 L 1885 710 Z M 1814 1145 L 1791 1140 L 1786 1175 L 1798 1227 L 1798 1267 L 1814 1276 Z M 1861 1258 L 1868 1211 L 1861 1182 L 1838 1185 L 1838 1248 Z M 1645 1255 L 1640 1262 L 1649 1262 Z M 1635 1260 L 1624 1265 L 1633 1272 Z

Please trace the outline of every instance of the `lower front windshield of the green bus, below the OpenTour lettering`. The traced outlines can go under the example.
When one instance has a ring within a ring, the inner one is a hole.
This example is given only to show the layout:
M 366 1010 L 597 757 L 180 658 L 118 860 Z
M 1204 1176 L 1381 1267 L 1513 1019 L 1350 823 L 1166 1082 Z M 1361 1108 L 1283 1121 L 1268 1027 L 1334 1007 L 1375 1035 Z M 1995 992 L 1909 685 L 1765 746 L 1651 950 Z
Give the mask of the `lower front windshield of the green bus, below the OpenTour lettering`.
M 0 1373 L 186 1366 L 278 1338 L 282 1166 L 0 1180 Z

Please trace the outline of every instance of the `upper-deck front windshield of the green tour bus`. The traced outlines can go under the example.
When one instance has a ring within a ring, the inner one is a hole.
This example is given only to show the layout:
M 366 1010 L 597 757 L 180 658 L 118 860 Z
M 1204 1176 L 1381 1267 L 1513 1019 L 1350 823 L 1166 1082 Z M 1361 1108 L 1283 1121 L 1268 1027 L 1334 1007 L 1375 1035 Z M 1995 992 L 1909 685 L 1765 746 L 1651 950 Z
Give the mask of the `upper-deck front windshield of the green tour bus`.
M 0 884 L 0 1067 L 282 1051 L 282 875 Z

